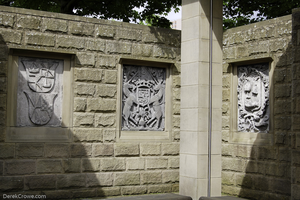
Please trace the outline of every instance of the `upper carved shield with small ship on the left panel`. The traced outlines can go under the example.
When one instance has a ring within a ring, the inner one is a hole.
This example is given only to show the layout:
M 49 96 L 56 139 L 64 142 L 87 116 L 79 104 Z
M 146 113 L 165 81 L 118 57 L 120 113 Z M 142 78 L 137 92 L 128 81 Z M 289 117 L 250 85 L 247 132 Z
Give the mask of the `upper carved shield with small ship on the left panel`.
M 36 92 L 48 92 L 54 85 L 55 69 L 58 63 L 21 61 L 26 69 L 28 85 Z

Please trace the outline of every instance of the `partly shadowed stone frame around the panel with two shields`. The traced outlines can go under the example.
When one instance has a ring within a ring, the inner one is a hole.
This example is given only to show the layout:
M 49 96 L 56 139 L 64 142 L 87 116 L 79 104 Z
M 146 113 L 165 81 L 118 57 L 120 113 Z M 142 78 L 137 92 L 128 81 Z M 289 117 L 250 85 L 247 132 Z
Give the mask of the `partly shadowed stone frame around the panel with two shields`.
M 6 142 L 72 142 L 74 55 L 76 51 L 9 46 Z M 63 60 L 61 127 L 16 126 L 19 56 Z

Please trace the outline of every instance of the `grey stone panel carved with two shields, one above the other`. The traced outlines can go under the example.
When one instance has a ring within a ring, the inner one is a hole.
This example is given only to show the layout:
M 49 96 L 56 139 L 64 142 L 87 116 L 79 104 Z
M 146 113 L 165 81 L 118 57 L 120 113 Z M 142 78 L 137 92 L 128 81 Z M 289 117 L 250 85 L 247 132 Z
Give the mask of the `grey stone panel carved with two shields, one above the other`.
M 17 126 L 61 126 L 63 60 L 19 57 Z

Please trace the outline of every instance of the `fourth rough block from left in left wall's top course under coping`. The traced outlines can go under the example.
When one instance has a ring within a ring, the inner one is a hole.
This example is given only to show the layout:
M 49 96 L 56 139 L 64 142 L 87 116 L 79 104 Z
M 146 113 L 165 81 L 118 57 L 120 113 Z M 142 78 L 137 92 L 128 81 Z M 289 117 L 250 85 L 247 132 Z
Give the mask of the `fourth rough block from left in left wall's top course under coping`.
M 95 35 L 95 25 L 92 23 L 69 21 L 69 34 L 93 37 Z

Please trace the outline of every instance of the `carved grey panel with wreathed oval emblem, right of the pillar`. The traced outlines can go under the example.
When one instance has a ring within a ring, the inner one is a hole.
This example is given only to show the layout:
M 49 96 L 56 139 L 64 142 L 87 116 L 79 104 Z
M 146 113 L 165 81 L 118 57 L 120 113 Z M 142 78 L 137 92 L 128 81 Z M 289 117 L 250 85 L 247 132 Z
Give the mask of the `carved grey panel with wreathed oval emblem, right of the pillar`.
M 238 131 L 269 131 L 269 64 L 238 66 Z

